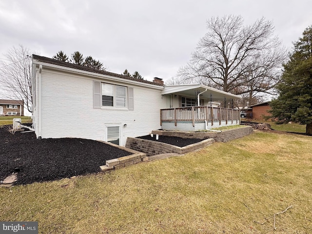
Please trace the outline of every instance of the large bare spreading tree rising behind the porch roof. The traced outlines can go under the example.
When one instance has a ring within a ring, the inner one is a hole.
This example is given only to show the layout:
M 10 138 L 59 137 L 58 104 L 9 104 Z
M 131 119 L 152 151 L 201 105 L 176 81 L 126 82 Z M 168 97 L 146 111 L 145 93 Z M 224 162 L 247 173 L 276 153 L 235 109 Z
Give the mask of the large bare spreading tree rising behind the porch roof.
M 279 81 L 287 50 L 273 37 L 273 23 L 264 18 L 244 26 L 240 16 L 207 21 L 190 62 L 178 77 L 251 98 L 272 93 Z

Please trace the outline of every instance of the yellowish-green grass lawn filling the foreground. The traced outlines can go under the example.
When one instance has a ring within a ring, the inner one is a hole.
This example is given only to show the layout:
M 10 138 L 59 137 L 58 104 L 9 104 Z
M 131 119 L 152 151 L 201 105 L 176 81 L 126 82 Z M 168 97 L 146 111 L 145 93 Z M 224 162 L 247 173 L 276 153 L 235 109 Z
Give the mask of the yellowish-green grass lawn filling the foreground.
M 0 220 L 38 221 L 42 234 L 312 233 L 311 175 L 312 137 L 258 131 L 110 173 L 0 188 Z

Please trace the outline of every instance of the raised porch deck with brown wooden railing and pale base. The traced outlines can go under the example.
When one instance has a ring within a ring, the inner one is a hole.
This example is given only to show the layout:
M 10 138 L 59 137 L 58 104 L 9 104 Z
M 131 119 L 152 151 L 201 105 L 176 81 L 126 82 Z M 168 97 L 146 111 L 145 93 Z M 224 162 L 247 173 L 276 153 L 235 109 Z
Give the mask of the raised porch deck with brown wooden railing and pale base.
M 237 109 L 192 106 L 160 110 L 160 125 L 164 130 L 205 130 L 240 123 Z

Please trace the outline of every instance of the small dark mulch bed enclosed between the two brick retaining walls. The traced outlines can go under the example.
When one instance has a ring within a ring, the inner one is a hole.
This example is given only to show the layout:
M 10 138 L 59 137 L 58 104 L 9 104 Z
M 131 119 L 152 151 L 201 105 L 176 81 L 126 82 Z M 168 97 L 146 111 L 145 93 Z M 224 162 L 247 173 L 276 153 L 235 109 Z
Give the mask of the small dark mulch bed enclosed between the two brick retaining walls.
M 181 138 L 181 137 L 167 137 L 167 136 L 158 136 L 158 140 L 156 140 L 156 135 L 154 135 L 153 137 L 151 137 L 151 135 L 146 135 L 146 136 L 137 137 L 137 138 L 159 141 L 159 142 L 163 142 L 163 143 L 167 143 L 167 144 L 175 145 L 179 147 L 191 145 L 191 144 L 194 144 L 203 140 L 203 139 L 195 139 L 195 138 Z

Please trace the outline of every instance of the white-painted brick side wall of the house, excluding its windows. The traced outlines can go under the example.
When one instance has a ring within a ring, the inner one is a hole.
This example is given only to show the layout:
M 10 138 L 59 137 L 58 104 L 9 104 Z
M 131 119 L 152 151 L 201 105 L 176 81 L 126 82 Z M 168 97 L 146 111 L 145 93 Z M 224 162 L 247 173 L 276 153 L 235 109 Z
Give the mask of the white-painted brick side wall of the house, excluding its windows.
M 94 109 L 93 81 L 134 88 L 134 110 L 103 107 Z M 143 136 L 159 129 L 159 110 L 166 108 L 167 98 L 160 95 L 160 89 L 148 85 L 143 87 L 127 81 L 122 83 L 47 67 L 42 69 L 41 85 L 38 72 L 35 82 L 34 125 L 37 137 L 41 132 L 42 138 L 78 137 L 105 141 L 106 126 L 119 125 L 120 145 L 124 146 L 127 137 Z M 40 102 L 41 114 L 38 108 Z M 124 124 L 127 126 L 124 127 Z

